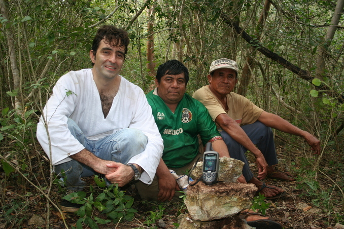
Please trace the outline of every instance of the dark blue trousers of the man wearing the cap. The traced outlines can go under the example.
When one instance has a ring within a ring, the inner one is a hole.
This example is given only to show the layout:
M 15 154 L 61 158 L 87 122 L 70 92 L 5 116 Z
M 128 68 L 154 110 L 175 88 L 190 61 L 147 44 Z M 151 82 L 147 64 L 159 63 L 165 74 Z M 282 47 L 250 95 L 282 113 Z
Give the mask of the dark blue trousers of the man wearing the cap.
M 244 125 L 241 128 L 245 131 L 253 144 L 257 145 L 269 166 L 278 164 L 271 128 L 265 126 L 259 121 L 249 125 Z M 246 181 L 251 180 L 253 178 L 253 173 L 250 170 L 249 162 L 245 155 L 247 149 L 235 141 L 225 131 L 221 131 L 220 134 L 228 147 L 230 157 L 245 163 L 243 167 L 243 175 Z

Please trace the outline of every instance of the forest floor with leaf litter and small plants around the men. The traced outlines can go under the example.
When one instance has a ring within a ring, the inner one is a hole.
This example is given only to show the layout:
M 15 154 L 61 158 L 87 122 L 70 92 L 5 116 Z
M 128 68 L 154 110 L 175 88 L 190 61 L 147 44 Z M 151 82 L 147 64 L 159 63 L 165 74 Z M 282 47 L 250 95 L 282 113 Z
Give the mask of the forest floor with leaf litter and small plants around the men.
M 290 139 L 289 139 L 290 140 Z M 287 196 L 279 200 L 264 200 L 269 203 L 266 215 L 280 221 L 284 228 L 298 229 L 320 229 L 334 228 L 339 221 L 344 224 L 343 216 L 343 196 L 337 185 L 343 182 L 344 159 L 340 158 L 330 169 L 331 161 L 323 157 L 319 168 L 321 171 L 315 173 L 312 171 L 312 163 L 317 156 L 312 156 L 310 150 L 303 143 L 300 146 L 290 146 L 288 140 L 276 138 L 276 146 L 279 158 L 278 168 L 281 171 L 290 171 L 295 181 L 283 182 L 266 178 L 265 183 L 282 187 L 288 193 Z M 307 153 L 305 153 L 307 151 Z M 308 156 L 306 156 L 308 154 Z M 308 165 L 306 165 L 308 163 Z M 48 163 L 45 163 L 48 164 Z M 254 164 L 252 164 L 254 165 Z M 49 168 L 44 169 L 46 176 L 49 176 Z M 39 168 L 39 167 L 37 167 Z M 252 171 L 256 171 L 253 166 Z M 36 174 L 39 174 L 37 171 Z M 0 229 L 3 228 L 44 228 L 45 224 L 37 227 L 30 225 L 29 219 L 33 215 L 39 216 L 46 223 L 47 201 L 37 189 L 31 185 L 13 185 L 10 180 L 4 181 L 5 174 L 0 168 L 0 181 L 2 189 L 2 200 L 0 208 Z M 12 178 L 16 178 L 13 176 Z M 20 180 L 20 177 L 17 177 Z M 38 177 L 38 180 L 41 178 Z M 93 177 L 87 179 L 92 185 L 95 185 Z M 342 188 L 342 186 L 341 186 Z M 180 204 L 156 204 L 142 201 L 137 195 L 134 185 L 127 185 L 125 195 L 135 198 L 132 208 L 136 209 L 135 217 L 132 221 L 121 221 L 120 223 L 98 224 L 99 228 L 176 228 L 178 215 L 187 213 L 183 202 Z M 62 197 L 61 190 L 54 185 L 51 189 L 51 199 L 58 203 Z M 11 206 L 11 207 L 10 207 Z M 17 206 L 17 207 L 15 207 Z M 11 210 L 12 209 L 12 210 Z M 50 208 L 49 228 L 65 228 L 59 212 Z M 5 216 L 6 215 L 6 216 Z M 65 223 L 68 228 L 76 226 L 79 219 L 74 213 L 65 213 Z M 99 211 L 93 212 L 94 216 L 106 219 L 106 215 Z M 165 227 L 158 227 L 158 220 L 163 220 Z M 149 224 L 148 224 L 149 223 Z M 90 228 L 90 227 L 83 227 Z

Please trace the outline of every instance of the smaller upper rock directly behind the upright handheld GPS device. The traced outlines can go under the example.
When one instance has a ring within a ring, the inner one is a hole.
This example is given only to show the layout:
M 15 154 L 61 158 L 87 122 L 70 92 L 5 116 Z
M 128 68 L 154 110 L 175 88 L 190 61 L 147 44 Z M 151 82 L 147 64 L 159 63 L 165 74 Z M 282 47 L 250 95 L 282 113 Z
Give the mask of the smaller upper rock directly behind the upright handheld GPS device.
M 244 162 L 234 158 L 220 158 L 218 179 L 222 182 L 236 182 L 237 178 L 242 175 Z M 203 162 L 198 162 L 192 175 L 196 178 L 201 177 L 203 172 Z

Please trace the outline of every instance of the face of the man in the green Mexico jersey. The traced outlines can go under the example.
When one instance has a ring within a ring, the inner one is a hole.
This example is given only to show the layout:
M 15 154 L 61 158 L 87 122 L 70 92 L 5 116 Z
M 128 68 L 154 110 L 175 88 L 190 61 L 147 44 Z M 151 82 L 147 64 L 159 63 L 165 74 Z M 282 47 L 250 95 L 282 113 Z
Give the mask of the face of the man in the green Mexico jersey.
M 177 75 L 165 74 L 160 83 L 155 79 L 155 84 L 158 95 L 167 105 L 179 103 L 186 90 L 184 72 Z

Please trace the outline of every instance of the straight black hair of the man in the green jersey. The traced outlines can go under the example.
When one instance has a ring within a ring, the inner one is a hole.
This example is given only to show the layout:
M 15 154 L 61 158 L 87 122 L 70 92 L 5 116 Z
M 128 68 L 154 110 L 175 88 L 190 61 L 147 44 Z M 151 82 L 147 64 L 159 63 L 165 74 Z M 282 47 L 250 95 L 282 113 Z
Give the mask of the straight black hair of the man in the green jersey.
M 187 85 L 188 81 L 189 81 L 189 70 L 187 67 L 185 67 L 184 64 L 182 64 L 182 62 L 178 61 L 178 60 L 168 60 L 163 64 L 160 64 L 160 66 L 158 67 L 158 70 L 156 72 L 156 79 L 158 81 L 158 83 L 160 83 L 161 78 L 166 75 L 166 74 L 170 74 L 170 75 L 178 75 L 184 73 L 184 77 L 185 77 L 185 86 Z

